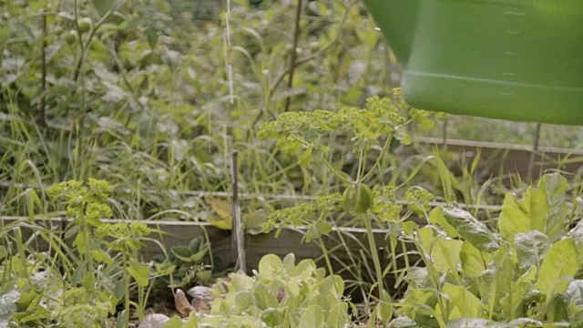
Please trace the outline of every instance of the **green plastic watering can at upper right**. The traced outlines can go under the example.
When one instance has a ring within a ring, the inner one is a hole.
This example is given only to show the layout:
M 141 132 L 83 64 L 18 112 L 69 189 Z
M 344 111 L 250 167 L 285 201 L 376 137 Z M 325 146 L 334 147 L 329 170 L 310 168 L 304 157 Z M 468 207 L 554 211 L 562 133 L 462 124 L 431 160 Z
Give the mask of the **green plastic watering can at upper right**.
M 583 125 L 583 0 L 365 3 L 411 106 Z

